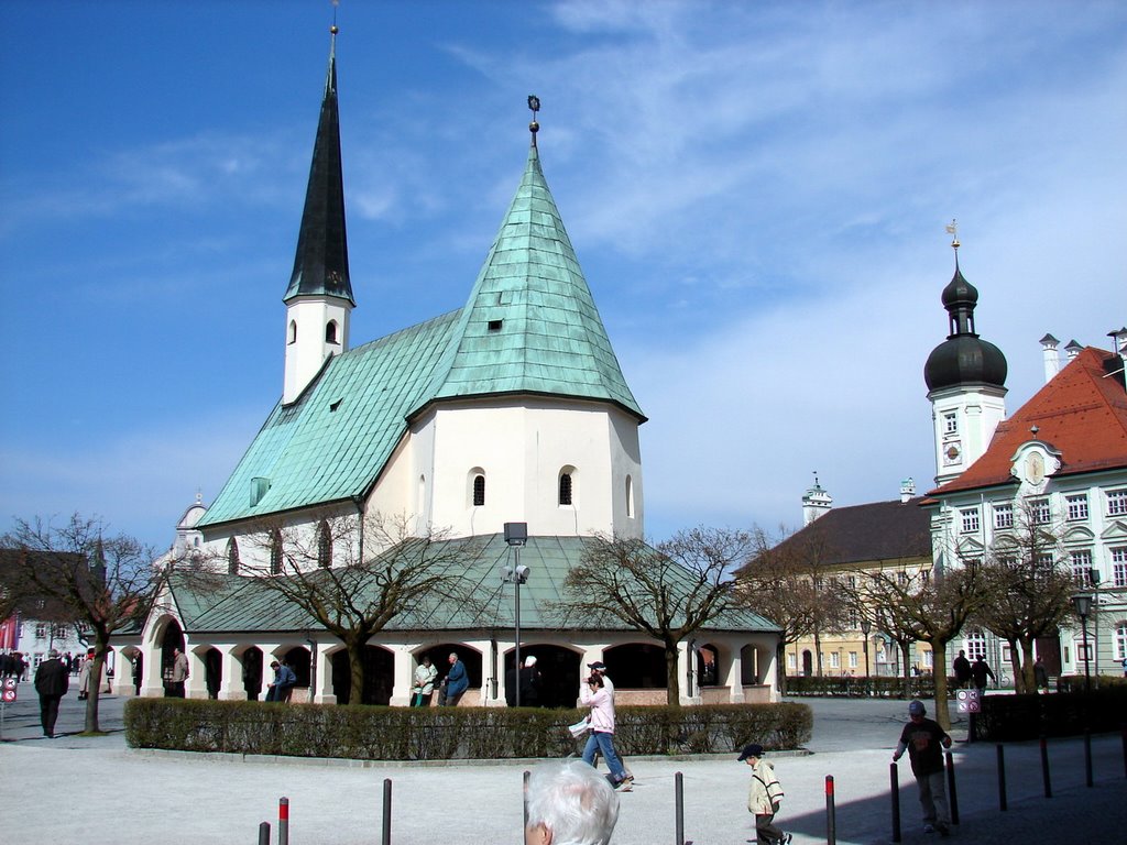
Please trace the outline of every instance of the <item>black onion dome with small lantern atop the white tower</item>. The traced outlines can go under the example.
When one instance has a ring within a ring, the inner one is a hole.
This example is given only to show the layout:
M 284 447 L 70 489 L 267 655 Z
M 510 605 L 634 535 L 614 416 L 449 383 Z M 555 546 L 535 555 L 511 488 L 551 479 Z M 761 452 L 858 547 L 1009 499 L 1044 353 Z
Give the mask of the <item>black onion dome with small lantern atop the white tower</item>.
M 923 368 L 928 390 L 942 390 L 959 384 L 1005 386 L 1009 370 L 1005 356 L 994 344 L 975 333 L 978 291 L 962 277 L 958 259 L 955 276 L 943 288 L 942 299 L 950 321 L 950 333 L 928 356 Z

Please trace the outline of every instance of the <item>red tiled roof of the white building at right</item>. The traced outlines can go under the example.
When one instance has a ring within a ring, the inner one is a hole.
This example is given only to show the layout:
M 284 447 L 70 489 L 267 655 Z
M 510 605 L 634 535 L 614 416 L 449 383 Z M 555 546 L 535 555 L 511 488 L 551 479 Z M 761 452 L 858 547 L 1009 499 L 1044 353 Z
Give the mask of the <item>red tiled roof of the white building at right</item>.
M 1013 455 L 1033 438 L 1059 450 L 1057 478 L 1127 466 L 1127 392 L 1122 373 L 1115 373 L 1121 367 L 1118 355 L 1085 347 L 1012 417 L 999 424 L 982 457 L 928 495 L 1012 482 Z M 1033 426 L 1036 435 L 1030 430 Z

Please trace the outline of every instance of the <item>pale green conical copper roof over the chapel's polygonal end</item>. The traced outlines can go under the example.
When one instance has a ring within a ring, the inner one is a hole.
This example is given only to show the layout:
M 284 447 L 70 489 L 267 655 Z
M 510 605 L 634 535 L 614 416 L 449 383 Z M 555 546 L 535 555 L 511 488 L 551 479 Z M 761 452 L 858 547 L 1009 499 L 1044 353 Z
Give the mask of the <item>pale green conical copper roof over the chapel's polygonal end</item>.
M 462 310 L 429 400 L 534 393 L 645 420 L 619 367 L 535 145 Z

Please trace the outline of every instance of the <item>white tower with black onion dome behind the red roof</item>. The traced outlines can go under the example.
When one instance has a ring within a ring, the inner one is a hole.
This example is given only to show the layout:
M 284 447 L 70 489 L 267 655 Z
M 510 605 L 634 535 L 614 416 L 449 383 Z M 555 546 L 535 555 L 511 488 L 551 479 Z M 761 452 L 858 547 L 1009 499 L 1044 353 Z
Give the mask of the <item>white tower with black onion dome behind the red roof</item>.
M 1005 418 L 1006 363 L 1002 350 L 975 332 L 978 291 L 959 269 L 955 221 L 955 276 L 943 288 L 949 330 L 947 340 L 932 349 L 923 377 L 931 400 L 935 433 L 935 483 L 946 484 L 977 461 L 997 424 Z

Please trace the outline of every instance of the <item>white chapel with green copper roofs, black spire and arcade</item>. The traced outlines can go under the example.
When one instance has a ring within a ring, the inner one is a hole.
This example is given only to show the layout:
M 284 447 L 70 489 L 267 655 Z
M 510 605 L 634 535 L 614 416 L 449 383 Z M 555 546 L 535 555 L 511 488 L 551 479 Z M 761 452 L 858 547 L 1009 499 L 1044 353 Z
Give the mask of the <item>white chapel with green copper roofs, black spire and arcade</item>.
M 534 98 L 530 106 L 535 117 Z M 140 637 L 121 642 L 124 657 L 141 656 L 143 695 L 163 694 L 176 647 L 189 658 L 189 697 L 255 696 L 264 665 L 285 656 L 305 697 L 357 700 L 343 643 L 265 579 L 289 577 L 291 542 L 309 550 L 310 568 L 332 570 L 357 554 L 394 554 L 400 541 L 441 537 L 434 548 L 474 601 L 418 603 L 374 634 L 358 700 L 407 704 L 418 661 L 428 656 L 442 669 L 456 651 L 470 675 L 463 703 L 504 705 L 517 619 L 514 585 L 502 578 L 515 554 L 503 531 L 523 523 L 520 558 L 531 576 L 521 588 L 520 650 L 538 659 L 541 703 L 573 704 L 594 660 L 606 662 L 620 701 L 665 701 L 656 641 L 630 630 L 559 630 L 545 612 L 585 544 L 644 537 L 646 417 L 544 179 L 535 119 L 530 131 L 520 186 L 464 305 L 354 347 L 330 51 L 283 297 L 282 397 L 192 526 L 198 542 L 187 557 L 208 578 L 174 575 Z M 341 535 L 341 525 L 353 527 Z M 775 640 L 773 624 L 745 612 L 699 632 L 682 644 L 683 701 L 770 700 Z M 117 675 L 124 690 L 126 673 Z

